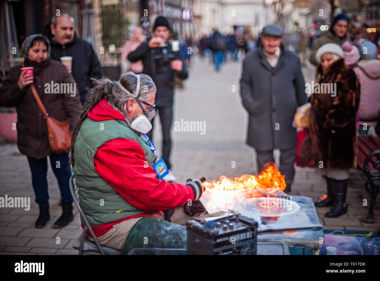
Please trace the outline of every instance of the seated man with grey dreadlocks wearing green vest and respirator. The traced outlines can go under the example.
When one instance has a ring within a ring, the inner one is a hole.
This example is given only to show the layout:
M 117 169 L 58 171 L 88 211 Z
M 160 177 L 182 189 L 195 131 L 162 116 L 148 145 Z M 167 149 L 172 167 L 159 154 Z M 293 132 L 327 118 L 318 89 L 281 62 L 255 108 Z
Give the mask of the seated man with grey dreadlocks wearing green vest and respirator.
M 204 208 L 199 201 L 190 204 L 191 212 L 184 205 L 198 200 L 202 187 L 165 182 L 153 169 L 157 153 L 145 133 L 155 112 L 154 82 L 133 72 L 117 82 L 94 81 L 74 127 L 70 162 L 81 208 L 95 236 L 122 254 L 147 245 L 186 248 L 182 225 Z M 170 209 L 165 211 L 167 221 L 160 220 L 160 211 Z

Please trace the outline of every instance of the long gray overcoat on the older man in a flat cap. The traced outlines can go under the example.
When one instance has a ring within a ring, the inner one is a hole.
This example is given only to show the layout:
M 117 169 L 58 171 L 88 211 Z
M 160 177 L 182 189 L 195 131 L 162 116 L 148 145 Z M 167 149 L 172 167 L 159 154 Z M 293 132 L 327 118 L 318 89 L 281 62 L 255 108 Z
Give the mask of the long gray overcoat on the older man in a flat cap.
M 281 44 L 279 62 L 272 68 L 261 46 L 250 52 L 243 62 L 240 95 L 249 114 L 247 144 L 256 150 L 296 146 L 293 118 L 297 107 L 307 99 L 296 54 Z

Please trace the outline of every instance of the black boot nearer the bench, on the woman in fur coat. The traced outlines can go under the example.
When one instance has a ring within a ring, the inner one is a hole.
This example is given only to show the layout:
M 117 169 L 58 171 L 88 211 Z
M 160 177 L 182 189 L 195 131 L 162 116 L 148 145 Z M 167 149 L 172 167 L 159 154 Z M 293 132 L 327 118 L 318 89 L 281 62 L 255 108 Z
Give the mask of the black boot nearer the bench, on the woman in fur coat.
M 333 205 L 329 212 L 325 214 L 327 218 L 337 218 L 347 213 L 346 203 L 348 180 L 331 179 L 332 194 L 334 196 Z

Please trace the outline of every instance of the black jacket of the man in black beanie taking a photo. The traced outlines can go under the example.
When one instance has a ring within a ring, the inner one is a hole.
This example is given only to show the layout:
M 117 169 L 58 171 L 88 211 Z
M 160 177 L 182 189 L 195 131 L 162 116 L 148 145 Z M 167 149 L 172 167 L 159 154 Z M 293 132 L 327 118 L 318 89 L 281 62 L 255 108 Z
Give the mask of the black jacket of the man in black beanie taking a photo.
M 170 107 L 173 106 L 173 95 L 174 95 L 174 74 L 182 79 L 186 79 L 187 69 L 186 64 L 180 52 L 178 52 L 177 57 L 171 51 L 171 44 L 168 44 L 165 49 L 168 51 L 168 61 L 164 62 L 162 56 L 163 48 L 149 48 L 149 42 L 146 41 L 142 43 L 137 49 L 128 54 L 128 60 L 131 62 L 142 61 L 144 69 L 142 73 L 152 77 L 154 83 L 157 87 L 155 104 L 157 107 Z M 154 54 L 155 63 L 154 69 L 152 69 L 152 57 Z M 182 71 L 176 71 L 171 68 L 171 60 L 180 59 L 182 60 Z

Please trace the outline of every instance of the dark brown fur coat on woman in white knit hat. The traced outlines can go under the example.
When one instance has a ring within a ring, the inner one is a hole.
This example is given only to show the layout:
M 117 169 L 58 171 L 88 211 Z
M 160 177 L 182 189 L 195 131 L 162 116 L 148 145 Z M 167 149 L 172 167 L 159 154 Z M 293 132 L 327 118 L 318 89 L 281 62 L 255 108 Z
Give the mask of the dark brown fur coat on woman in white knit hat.
M 357 153 L 356 112 L 360 99 L 359 81 L 343 58 L 333 62 L 325 74 L 321 65 L 317 66 L 317 71 L 315 84 L 332 83 L 334 86 L 330 91 L 320 87 L 320 92 L 313 93 L 310 97 L 312 165 L 320 166 L 320 161 L 323 161 L 323 167 L 354 168 Z M 333 90 L 335 93 L 332 93 Z M 336 96 L 331 96 L 335 94 Z

